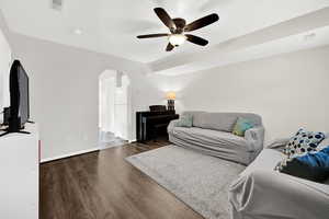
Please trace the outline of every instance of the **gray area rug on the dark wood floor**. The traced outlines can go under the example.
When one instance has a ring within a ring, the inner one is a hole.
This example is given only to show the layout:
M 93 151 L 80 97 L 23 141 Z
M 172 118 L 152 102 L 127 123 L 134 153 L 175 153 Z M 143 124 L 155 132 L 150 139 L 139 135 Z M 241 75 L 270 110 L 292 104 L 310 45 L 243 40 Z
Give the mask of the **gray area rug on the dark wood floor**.
M 207 219 L 229 219 L 228 187 L 243 165 L 166 146 L 126 158 Z

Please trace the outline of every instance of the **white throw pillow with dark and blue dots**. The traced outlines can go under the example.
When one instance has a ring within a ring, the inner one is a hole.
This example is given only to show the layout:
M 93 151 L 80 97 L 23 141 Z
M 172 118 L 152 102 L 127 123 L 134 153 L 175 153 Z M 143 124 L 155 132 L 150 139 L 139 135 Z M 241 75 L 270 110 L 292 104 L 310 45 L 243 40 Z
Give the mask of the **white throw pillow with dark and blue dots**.
M 318 145 L 326 138 L 320 131 L 307 131 L 300 128 L 295 136 L 291 138 L 283 152 L 288 158 L 304 155 L 307 152 L 316 152 Z

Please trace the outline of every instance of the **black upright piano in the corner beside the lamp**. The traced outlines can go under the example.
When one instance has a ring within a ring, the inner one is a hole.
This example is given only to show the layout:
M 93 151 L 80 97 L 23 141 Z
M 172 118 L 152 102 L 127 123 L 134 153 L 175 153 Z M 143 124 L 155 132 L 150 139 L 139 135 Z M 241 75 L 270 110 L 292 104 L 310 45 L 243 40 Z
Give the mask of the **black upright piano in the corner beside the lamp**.
M 138 142 L 168 138 L 167 127 L 179 115 L 174 111 L 167 111 L 166 106 L 150 106 L 151 111 L 136 113 L 136 136 Z

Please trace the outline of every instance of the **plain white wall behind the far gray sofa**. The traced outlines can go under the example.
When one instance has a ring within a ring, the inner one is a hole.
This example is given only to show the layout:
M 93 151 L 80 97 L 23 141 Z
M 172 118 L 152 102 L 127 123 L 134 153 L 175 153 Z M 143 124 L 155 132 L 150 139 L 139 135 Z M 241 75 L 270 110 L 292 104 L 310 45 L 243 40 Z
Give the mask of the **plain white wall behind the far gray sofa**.
M 260 114 L 268 140 L 299 127 L 329 132 L 328 58 L 329 46 L 174 77 L 188 85 L 178 99 L 184 110 Z

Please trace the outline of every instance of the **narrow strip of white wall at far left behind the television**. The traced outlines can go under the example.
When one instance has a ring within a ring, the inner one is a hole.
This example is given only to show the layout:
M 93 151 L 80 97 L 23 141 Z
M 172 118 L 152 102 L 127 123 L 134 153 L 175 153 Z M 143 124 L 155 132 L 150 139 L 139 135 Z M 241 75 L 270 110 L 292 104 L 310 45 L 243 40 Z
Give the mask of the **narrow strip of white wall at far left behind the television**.
M 11 47 L 0 27 L 0 111 L 9 106 L 9 71 L 11 65 Z M 2 116 L 0 118 L 2 120 Z

